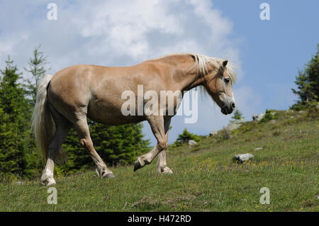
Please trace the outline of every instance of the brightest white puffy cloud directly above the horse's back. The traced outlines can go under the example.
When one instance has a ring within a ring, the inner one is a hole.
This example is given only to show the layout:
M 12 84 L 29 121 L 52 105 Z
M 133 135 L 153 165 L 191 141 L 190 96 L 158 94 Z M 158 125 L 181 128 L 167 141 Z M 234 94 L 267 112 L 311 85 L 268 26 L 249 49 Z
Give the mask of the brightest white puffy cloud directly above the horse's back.
M 140 62 L 170 52 L 199 52 L 239 62 L 228 38 L 233 24 L 211 1 L 97 1 L 77 9 L 72 23 L 92 57 Z

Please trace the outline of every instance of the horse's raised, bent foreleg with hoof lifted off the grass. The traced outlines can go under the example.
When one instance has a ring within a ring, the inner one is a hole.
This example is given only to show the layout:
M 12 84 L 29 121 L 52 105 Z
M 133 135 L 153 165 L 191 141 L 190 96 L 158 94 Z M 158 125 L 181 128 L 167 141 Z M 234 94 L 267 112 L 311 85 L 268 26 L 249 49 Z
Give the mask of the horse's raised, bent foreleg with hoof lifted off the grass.
M 166 133 L 169 129 L 165 128 L 164 126 L 164 118 L 162 115 L 152 115 L 147 119 L 148 123 L 150 123 L 150 127 L 152 129 L 153 134 L 157 139 L 157 145 L 152 151 L 148 152 L 147 154 L 143 154 L 142 156 L 138 157 L 135 161 L 134 171 L 150 164 L 153 159 L 162 152 L 162 150 L 167 149 L 167 136 Z

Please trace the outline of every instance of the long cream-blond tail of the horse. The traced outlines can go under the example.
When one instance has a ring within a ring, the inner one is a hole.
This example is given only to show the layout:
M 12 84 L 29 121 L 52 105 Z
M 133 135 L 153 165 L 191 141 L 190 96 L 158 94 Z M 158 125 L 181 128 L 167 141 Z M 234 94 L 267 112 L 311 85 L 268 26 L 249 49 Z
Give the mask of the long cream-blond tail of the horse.
M 38 150 L 42 152 L 45 161 L 47 159 L 50 141 L 52 140 L 55 132 L 55 123 L 52 119 L 47 100 L 47 88 L 51 79 L 52 76 L 47 75 L 42 81 L 40 81 L 32 115 L 32 128 L 35 135 L 35 143 L 38 147 Z M 65 152 L 63 152 L 61 148 L 57 153 L 55 162 L 65 162 L 65 157 Z

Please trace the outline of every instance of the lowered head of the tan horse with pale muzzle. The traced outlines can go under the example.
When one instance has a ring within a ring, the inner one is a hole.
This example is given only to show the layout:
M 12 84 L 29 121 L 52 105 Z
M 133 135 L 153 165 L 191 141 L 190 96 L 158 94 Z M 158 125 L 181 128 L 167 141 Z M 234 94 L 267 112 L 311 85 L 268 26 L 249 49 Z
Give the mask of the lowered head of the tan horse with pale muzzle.
M 228 61 L 220 63 L 220 67 L 211 70 L 206 74 L 203 86 L 213 100 L 221 108 L 225 115 L 230 114 L 235 109 L 235 100 L 232 91 L 233 79 L 235 75 L 231 67 L 227 67 Z

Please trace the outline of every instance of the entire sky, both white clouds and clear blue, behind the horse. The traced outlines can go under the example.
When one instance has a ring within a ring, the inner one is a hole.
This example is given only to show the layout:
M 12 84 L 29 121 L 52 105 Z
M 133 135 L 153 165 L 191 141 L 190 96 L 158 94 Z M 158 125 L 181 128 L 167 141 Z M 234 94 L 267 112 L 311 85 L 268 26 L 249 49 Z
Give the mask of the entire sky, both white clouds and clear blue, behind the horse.
M 48 20 L 47 5 L 57 5 Z M 269 4 L 269 20 L 261 20 Z M 236 65 L 233 94 L 246 120 L 266 109 L 286 110 L 298 69 L 319 43 L 319 1 L 5 1 L 0 0 L 0 68 L 6 57 L 23 72 L 35 47 L 50 62 L 48 74 L 72 64 L 128 66 L 172 52 L 197 52 Z M 228 124 L 210 97 L 198 98 L 198 120 L 174 116 L 169 143 L 187 128 L 208 135 Z M 145 138 L 156 140 L 147 123 Z

